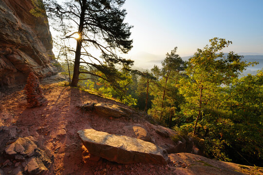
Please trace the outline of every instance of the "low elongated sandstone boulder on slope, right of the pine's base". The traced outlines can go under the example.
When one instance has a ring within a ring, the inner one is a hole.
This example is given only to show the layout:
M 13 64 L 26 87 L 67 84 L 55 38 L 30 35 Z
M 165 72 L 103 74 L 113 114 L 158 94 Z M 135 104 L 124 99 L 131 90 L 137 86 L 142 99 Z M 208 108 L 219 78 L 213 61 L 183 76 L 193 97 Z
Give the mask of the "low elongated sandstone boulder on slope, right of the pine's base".
M 100 103 L 94 105 L 94 108 L 99 113 L 102 113 L 108 117 L 115 117 L 115 118 L 119 118 L 121 116 L 128 117 L 132 113 L 131 109 L 119 105 L 113 105 L 113 104 Z

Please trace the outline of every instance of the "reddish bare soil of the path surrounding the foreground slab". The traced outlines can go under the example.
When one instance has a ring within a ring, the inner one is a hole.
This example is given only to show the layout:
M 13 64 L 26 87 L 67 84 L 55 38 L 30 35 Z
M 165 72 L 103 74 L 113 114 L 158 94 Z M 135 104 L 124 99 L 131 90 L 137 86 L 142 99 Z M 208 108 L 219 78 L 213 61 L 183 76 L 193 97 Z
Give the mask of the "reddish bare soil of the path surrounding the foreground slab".
M 76 132 L 94 128 L 113 134 L 123 133 L 123 126 L 141 124 L 161 145 L 172 143 L 169 138 L 156 134 L 154 125 L 143 117 L 135 115 L 131 118 L 108 118 L 92 111 L 82 111 L 77 105 L 85 103 L 119 102 L 81 91 L 77 88 L 51 84 L 43 86 L 43 95 L 48 99 L 47 106 L 27 108 L 26 96 L 22 87 L 2 91 L 0 101 L 0 126 L 15 125 L 19 129 L 19 137 L 33 136 L 42 140 L 55 157 L 52 171 L 55 175 L 168 175 L 175 174 L 173 164 L 118 164 L 106 159 L 90 155 L 82 146 Z M 167 130 L 170 132 L 170 130 Z M 1 162 L 0 162 L 1 163 Z

